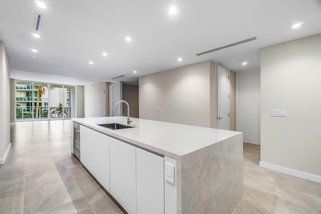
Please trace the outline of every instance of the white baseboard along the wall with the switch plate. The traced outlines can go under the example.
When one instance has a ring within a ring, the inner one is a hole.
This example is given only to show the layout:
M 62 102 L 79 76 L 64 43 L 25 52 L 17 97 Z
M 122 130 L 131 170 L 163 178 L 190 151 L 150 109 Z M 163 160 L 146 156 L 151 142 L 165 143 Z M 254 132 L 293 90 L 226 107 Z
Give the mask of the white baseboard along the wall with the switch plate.
M 293 169 L 288 169 L 288 168 L 276 166 L 276 165 L 269 164 L 269 163 L 264 163 L 262 161 L 260 161 L 260 167 L 266 168 L 266 169 L 271 169 L 273 171 L 278 171 L 278 172 L 281 172 L 284 174 L 289 174 L 289 175 L 292 175 L 295 177 L 303 178 L 305 180 L 310 180 L 313 182 L 321 183 L 321 177 L 317 176 L 317 175 L 313 175 L 313 174 L 309 174 L 309 173 L 305 173 L 305 172 L 301 172 L 301 171 L 296 171 Z

